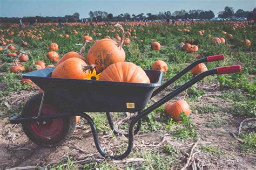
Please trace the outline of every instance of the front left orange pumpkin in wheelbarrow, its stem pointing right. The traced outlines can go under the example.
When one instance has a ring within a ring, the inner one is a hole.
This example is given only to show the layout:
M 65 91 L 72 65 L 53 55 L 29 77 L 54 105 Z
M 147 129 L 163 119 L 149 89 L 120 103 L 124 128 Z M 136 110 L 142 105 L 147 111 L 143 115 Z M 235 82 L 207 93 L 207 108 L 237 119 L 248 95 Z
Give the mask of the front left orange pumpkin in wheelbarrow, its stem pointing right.
M 51 76 L 68 79 L 85 79 L 87 69 L 91 68 L 92 66 L 87 66 L 84 60 L 79 58 L 70 58 L 55 67 Z

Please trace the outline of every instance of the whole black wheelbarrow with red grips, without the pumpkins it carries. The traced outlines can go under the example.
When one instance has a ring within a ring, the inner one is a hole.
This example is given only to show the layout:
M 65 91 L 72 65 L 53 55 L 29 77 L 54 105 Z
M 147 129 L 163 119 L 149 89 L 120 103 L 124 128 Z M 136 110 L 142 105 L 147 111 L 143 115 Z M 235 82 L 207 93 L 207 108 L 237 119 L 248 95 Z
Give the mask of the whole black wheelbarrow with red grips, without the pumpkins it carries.
M 53 67 L 26 73 L 22 77 L 36 83 L 44 90 L 44 93 L 32 96 L 25 103 L 21 115 L 11 117 L 10 123 L 21 123 L 26 136 L 30 140 L 38 145 L 51 147 L 59 145 L 71 137 L 75 129 L 75 116 L 80 116 L 90 124 L 96 148 L 103 157 L 124 159 L 132 150 L 133 136 L 138 133 L 141 119 L 144 116 L 208 75 L 241 71 L 239 65 L 207 70 L 145 109 L 150 98 L 156 96 L 190 69 L 199 63 L 218 60 L 224 60 L 224 55 L 199 59 L 162 86 L 160 85 L 163 74 L 158 70 L 145 70 L 147 76 L 149 76 L 150 84 L 56 78 L 51 77 Z M 155 87 L 158 88 L 154 90 Z M 129 138 L 127 150 L 121 155 L 107 154 L 100 146 L 95 123 L 85 112 L 106 112 L 113 133 L 117 136 L 124 135 Z M 110 112 L 137 112 L 137 116 L 130 123 L 128 133 L 121 133 L 114 129 Z M 136 124 L 137 126 L 134 129 Z

